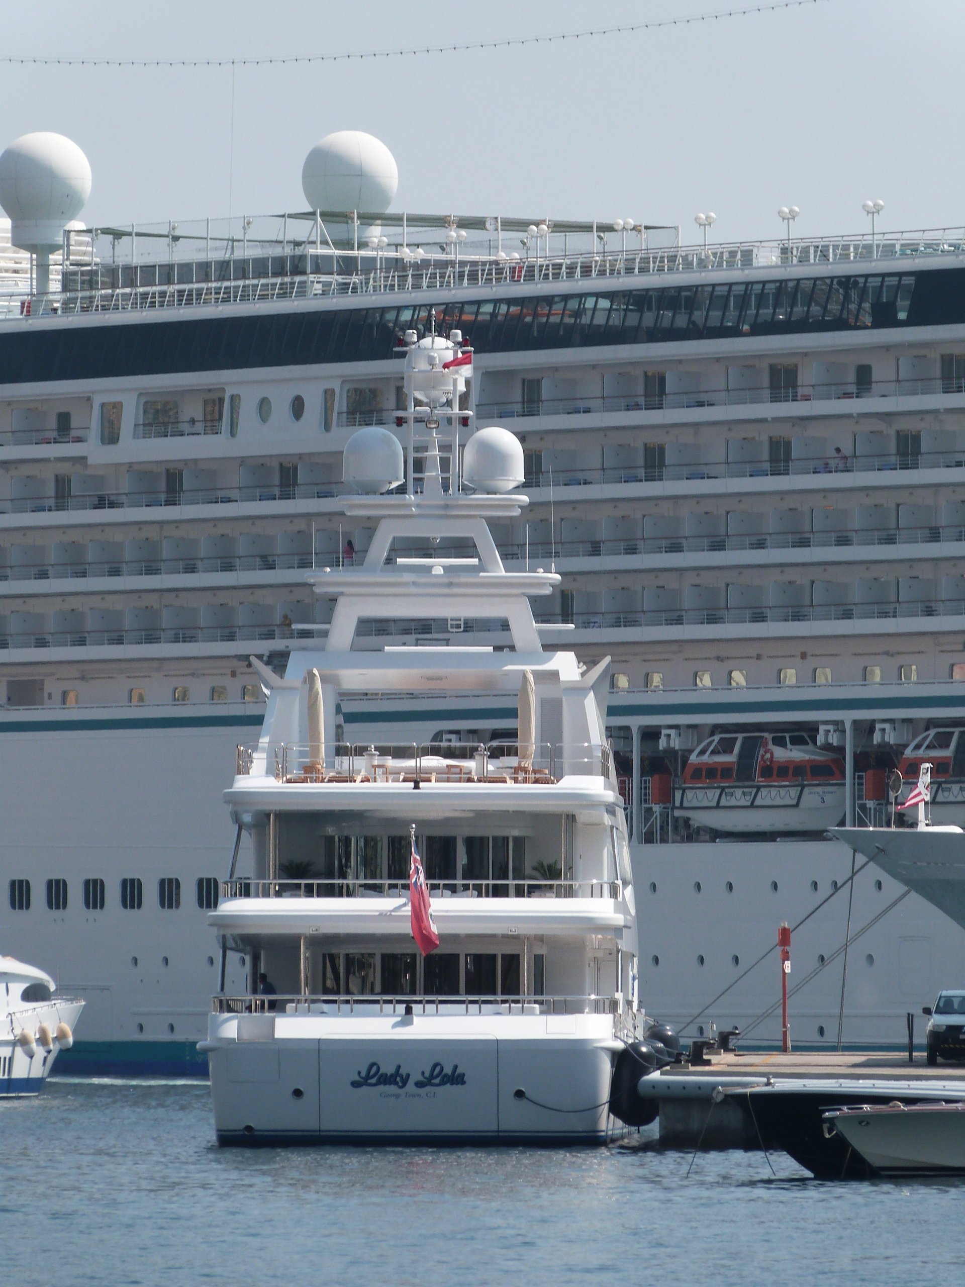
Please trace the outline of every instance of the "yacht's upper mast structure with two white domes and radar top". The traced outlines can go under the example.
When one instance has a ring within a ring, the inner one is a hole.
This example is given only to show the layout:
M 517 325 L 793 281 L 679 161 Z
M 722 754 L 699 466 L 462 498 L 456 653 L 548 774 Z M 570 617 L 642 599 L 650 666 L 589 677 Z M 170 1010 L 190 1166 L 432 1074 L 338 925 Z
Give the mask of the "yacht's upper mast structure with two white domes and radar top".
M 405 400 L 395 432 L 356 430 L 342 457 L 354 493 L 346 515 L 365 525 L 378 519 L 378 528 L 360 568 L 353 546 L 351 566 L 309 577 L 317 595 L 336 596 L 326 649 L 349 651 L 363 618 L 428 618 L 450 623 L 449 633 L 467 620 L 482 632 L 507 622 L 517 651 L 540 653 L 529 596 L 552 593 L 560 578 L 542 568 L 507 571 L 489 530 L 490 520 L 529 505 L 516 493 L 522 447 L 498 425 L 473 431 L 473 354 L 461 331 L 439 335 L 432 311 L 428 332 L 405 331 L 400 350 Z

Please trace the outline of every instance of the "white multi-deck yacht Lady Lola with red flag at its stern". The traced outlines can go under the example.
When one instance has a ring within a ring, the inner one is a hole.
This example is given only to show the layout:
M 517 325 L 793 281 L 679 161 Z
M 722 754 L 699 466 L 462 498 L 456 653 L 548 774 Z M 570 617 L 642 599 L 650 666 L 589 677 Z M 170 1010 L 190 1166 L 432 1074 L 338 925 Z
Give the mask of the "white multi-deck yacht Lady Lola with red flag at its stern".
M 488 520 L 526 505 L 501 494 L 522 450 L 493 426 L 461 453 L 461 340 L 405 335 L 405 461 L 383 429 L 346 447 L 359 490 L 407 485 L 345 501 L 380 524 L 360 568 L 309 574 L 336 598 L 326 649 L 293 651 L 284 678 L 252 659 L 265 723 L 226 799 L 255 874 L 208 915 L 223 978 L 241 954 L 248 979 L 215 996 L 201 1044 L 221 1143 L 602 1142 L 615 1064 L 646 1071 L 628 1049 L 643 1017 L 610 663 L 544 653 L 528 596 L 558 577 L 503 568 Z M 434 553 L 440 538 L 458 553 Z M 503 623 L 504 645 L 353 649 L 363 620 L 440 613 Z M 400 726 L 351 746 L 340 703 L 360 692 L 482 695 L 519 726 L 512 743 L 418 745 Z

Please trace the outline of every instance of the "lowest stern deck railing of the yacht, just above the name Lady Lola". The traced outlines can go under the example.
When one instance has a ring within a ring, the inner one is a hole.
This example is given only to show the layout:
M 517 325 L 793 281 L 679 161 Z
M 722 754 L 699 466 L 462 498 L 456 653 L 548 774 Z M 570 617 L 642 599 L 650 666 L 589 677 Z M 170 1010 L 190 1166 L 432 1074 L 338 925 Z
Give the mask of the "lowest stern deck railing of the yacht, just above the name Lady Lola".
M 623 1014 L 621 996 L 221 996 L 214 1014 Z

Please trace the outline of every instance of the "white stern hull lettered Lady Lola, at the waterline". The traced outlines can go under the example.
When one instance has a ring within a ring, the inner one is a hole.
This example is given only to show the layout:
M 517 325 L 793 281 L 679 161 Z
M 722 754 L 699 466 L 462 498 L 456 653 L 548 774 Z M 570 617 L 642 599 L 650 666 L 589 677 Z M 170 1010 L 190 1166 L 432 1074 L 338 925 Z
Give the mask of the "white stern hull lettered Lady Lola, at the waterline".
M 618 1042 L 602 1018 L 242 1015 L 212 1030 L 221 1144 L 607 1138 Z

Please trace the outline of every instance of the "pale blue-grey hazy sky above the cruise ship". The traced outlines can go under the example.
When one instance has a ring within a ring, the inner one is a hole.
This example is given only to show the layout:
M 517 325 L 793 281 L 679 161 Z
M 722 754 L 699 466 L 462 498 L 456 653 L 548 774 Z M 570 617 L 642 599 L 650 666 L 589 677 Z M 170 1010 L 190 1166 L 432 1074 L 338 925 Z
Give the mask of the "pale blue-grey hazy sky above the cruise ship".
M 746 4 L 737 0 L 736 6 Z M 762 0 L 767 3 L 767 0 Z M 0 54 L 246 58 L 412 48 L 724 12 L 726 0 L 3 0 Z M 818 0 L 519 49 L 286 67 L 0 63 L 0 148 L 57 130 L 86 152 L 89 224 L 304 210 L 333 130 L 381 138 L 394 208 L 630 218 L 717 241 L 965 224 L 962 0 Z M 233 143 L 232 143 L 233 138 Z M 703 236 L 703 234 L 700 234 Z

